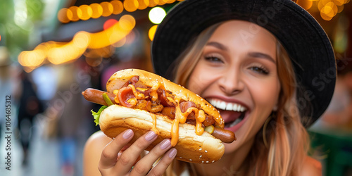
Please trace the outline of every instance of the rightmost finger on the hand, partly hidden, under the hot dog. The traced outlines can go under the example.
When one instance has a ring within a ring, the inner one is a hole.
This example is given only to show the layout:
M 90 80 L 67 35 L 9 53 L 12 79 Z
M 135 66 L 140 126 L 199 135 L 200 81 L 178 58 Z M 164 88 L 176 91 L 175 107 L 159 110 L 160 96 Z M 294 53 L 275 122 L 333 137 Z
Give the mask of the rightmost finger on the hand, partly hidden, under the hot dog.
M 159 161 L 159 163 L 149 171 L 148 176 L 163 175 L 165 170 L 174 160 L 176 154 L 177 150 L 175 148 L 172 148 L 168 152 L 166 152 L 163 158 L 161 158 L 161 161 Z

